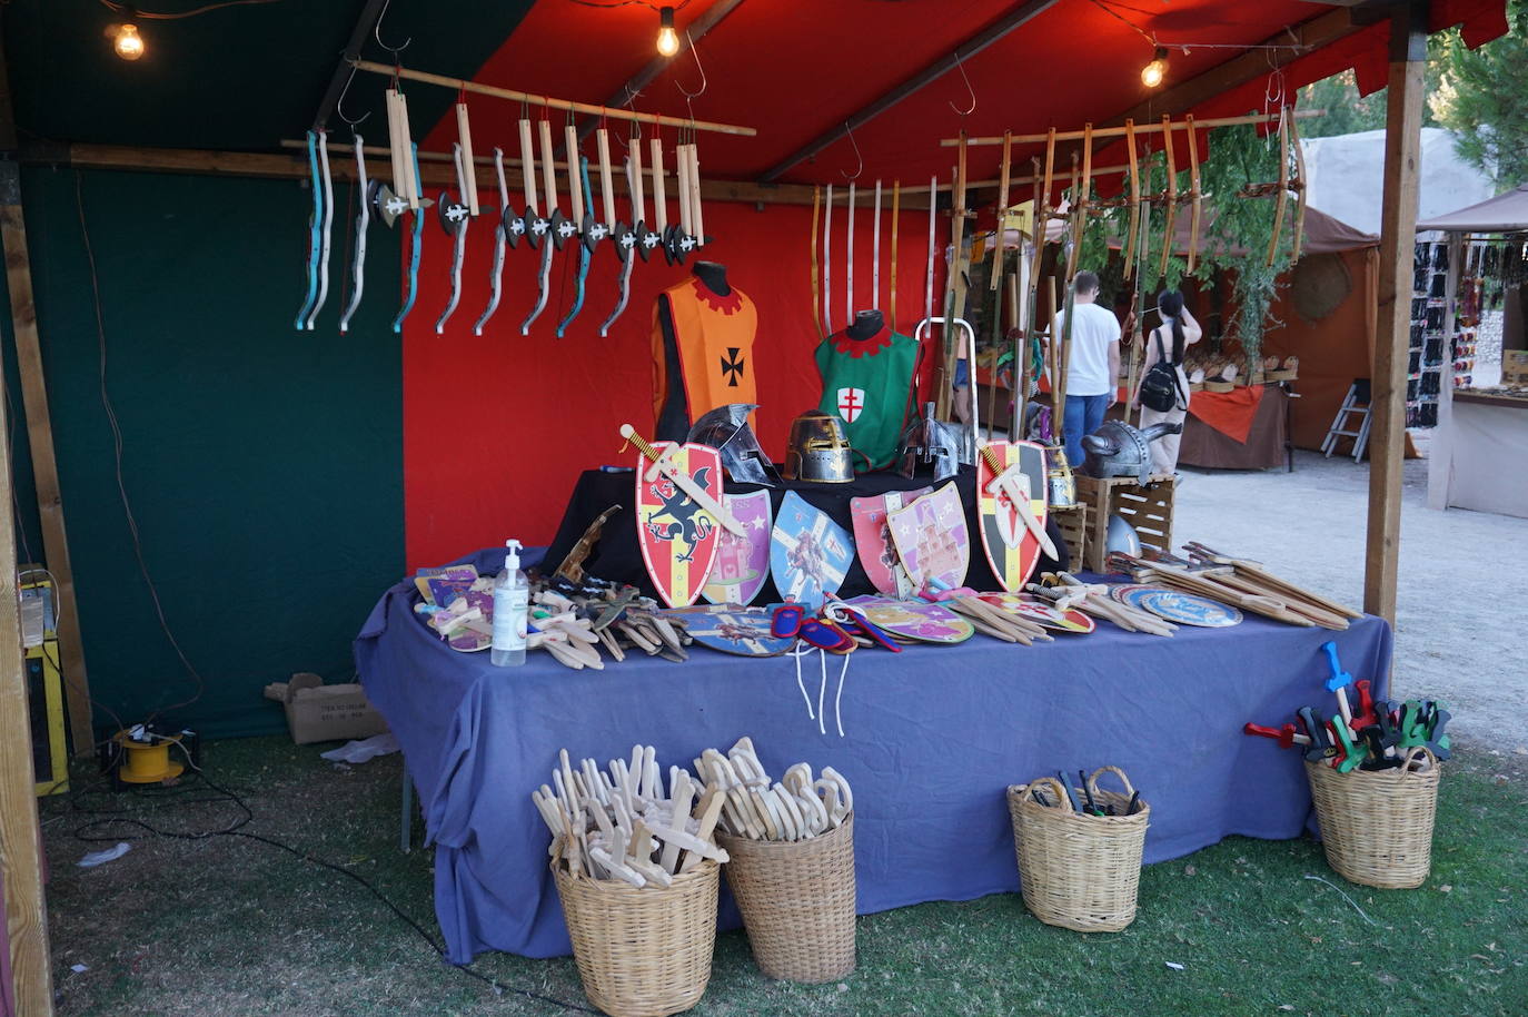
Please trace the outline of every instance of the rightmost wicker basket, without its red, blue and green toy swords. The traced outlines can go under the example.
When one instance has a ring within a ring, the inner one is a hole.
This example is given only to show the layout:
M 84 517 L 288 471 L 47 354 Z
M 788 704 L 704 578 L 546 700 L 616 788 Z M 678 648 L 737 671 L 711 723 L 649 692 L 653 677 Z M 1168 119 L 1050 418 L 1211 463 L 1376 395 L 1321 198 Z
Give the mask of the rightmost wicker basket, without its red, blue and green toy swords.
M 1438 814 L 1438 760 L 1413 748 L 1400 769 L 1355 769 L 1305 763 L 1322 827 L 1326 863 L 1343 879 L 1366 887 L 1420 887 L 1432 869 Z

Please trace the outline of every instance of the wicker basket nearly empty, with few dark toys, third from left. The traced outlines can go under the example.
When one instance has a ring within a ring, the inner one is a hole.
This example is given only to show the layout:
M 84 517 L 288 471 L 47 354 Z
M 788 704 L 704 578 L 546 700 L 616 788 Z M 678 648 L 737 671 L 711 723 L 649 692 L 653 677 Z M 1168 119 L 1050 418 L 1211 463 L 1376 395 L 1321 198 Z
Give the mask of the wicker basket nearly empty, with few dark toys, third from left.
M 1099 774 L 1117 774 L 1125 794 L 1099 791 Z M 1028 791 L 1042 786 L 1050 806 Z M 1094 800 L 1123 809 L 1135 789 L 1117 766 L 1103 766 L 1088 778 Z M 1082 792 L 1077 792 L 1082 798 Z M 1019 858 L 1024 904 L 1047 925 L 1082 933 L 1117 933 L 1135 921 L 1141 850 L 1151 806 L 1135 815 L 1082 815 L 1071 811 L 1062 786 L 1045 777 L 1034 785 L 1008 788 L 1013 847 Z

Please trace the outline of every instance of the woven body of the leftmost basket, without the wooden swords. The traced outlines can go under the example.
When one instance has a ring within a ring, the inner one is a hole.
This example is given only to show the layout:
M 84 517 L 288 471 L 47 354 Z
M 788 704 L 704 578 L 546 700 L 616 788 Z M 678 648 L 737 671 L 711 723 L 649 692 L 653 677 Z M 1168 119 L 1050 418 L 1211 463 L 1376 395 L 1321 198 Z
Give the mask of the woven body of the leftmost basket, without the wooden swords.
M 717 944 L 721 866 L 701 861 L 666 889 L 573 876 L 561 864 L 552 875 L 594 1006 L 611 1017 L 665 1017 L 700 1002 Z

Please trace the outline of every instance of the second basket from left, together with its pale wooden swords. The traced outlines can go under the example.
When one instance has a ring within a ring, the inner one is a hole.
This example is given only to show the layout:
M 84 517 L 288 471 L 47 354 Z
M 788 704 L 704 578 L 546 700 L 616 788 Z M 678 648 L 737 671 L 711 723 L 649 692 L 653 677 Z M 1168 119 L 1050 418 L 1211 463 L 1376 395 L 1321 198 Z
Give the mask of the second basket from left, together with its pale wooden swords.
M 854 798 L 831 766 L 813 780 L 796 763 L 772 783 L 753 752 L 738 743 L 723 755 L 706 749 L 695 768 L 711 788 L 726 788 L 717 840 L 723 872 L 743 911 L 753 960 L 767 977 L 833 982 L 854 971 Z

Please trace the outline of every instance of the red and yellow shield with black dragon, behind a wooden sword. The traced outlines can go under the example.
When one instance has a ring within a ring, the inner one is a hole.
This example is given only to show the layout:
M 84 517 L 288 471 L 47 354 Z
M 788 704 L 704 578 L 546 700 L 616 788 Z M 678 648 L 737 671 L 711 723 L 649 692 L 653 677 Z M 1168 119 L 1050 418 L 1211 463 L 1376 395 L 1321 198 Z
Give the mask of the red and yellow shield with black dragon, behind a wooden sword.
M 654 442 L 662 454 L 672 442 Z M 709 445 L 680 445 L 678 470 L 721 500 L 721 453 Z M 721 528 L 668 477 L 646 479 L 652 462 L 637 456 L 637 544 L 659 596 L 669 607 L 694 604 L 717 557 Z

